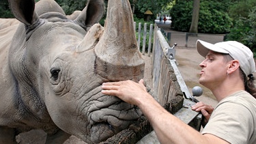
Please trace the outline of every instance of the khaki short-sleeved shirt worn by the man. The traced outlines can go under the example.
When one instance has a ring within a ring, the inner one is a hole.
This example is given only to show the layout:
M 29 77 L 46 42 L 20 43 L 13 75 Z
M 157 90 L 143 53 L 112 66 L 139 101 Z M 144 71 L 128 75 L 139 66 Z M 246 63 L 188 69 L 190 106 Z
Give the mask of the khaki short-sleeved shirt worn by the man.
M 213 134 L 229 143 L 256 143 L 256 99 L 246 91 L 224 98 L 214 109 L 202 134 Z

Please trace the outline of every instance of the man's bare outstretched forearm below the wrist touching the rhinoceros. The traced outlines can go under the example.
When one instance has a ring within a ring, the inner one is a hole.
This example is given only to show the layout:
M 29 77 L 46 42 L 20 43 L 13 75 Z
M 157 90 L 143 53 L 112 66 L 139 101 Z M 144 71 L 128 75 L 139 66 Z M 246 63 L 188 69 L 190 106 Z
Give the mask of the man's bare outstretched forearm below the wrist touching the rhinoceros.
M 202 143 L 203 135 L 166 111 L 150 94 L 138 106 L 149 119 L 160 143 Z M 195 139 L 196 138 L 196 139 Z

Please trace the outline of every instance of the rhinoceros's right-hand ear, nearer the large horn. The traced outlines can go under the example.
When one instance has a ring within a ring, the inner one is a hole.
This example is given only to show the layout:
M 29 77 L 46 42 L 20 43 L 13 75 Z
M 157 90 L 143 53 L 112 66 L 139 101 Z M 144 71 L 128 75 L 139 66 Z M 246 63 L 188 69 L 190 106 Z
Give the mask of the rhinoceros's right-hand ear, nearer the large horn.
M 74 20 L 75 23 L 86 29 L 100 21 L 104 14 L 103 0 L 89 0 L 81 14 Z

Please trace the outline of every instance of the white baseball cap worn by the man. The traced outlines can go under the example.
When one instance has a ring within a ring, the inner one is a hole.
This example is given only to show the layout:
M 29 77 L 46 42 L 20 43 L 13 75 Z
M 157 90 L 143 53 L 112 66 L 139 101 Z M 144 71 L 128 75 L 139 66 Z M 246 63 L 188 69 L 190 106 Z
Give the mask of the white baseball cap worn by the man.
M 253 52 L 244 44 L 236 41 L 218 42 L 210 44 L 202 40 L 197 40 L 198 53 L 206 57 L 208 52 L 214 51 L 217 53 L 229 54 L 233 59 L 237 59 L 240 63 L 240 68 L 248 76 L 255 72 L 255 61 L 253 59 Z

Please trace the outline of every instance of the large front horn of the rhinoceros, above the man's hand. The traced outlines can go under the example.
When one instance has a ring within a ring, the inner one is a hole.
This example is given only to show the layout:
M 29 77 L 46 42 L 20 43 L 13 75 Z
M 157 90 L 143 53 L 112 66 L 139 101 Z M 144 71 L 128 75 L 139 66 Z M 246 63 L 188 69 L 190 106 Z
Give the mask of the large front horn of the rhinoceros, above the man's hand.
M 109 81 L 143 78 L 145 63 L 137 46 L 128 0 L 109 0 L 104 33 L 95 53 L 96 73 Z

